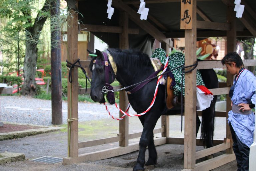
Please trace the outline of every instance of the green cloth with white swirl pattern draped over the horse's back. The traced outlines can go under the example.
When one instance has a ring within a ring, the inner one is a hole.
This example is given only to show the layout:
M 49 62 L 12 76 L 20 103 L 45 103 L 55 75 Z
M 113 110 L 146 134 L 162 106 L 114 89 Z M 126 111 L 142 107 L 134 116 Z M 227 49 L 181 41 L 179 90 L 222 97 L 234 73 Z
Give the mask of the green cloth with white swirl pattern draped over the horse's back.
M 164 49 L 161 48 L 157 48 L 151 58 L 157 58 L 161 61 L 161 63 L 164 65 L 165 61 L 166 61 L 166 52 Z M 173 53 L 169 56 L 169 61 L 168 61 L 168 67 L 170 70 L 177 68 L 181 65 L 183 65 L 185 63 L 185 56 L 183 53 L 180 52 L 176 52 Z M 201 73 L 199 72 L 199 70 L 196 71 L 196 85 L 203 85 L 205 86 Z M 176 70 L 172 71 L 174 78 L 175 78 L 175 82 L 176 85 L 173 87 L 174 89 L 174 95 L 178 96 L 181 93 L 181 81 L 183 81 L 183 96 L 185 95 L 185 78 L 183 80 L 181 80 L 181 75 L 182 75 L 182 71 L 181 68 L 178 68 Z

